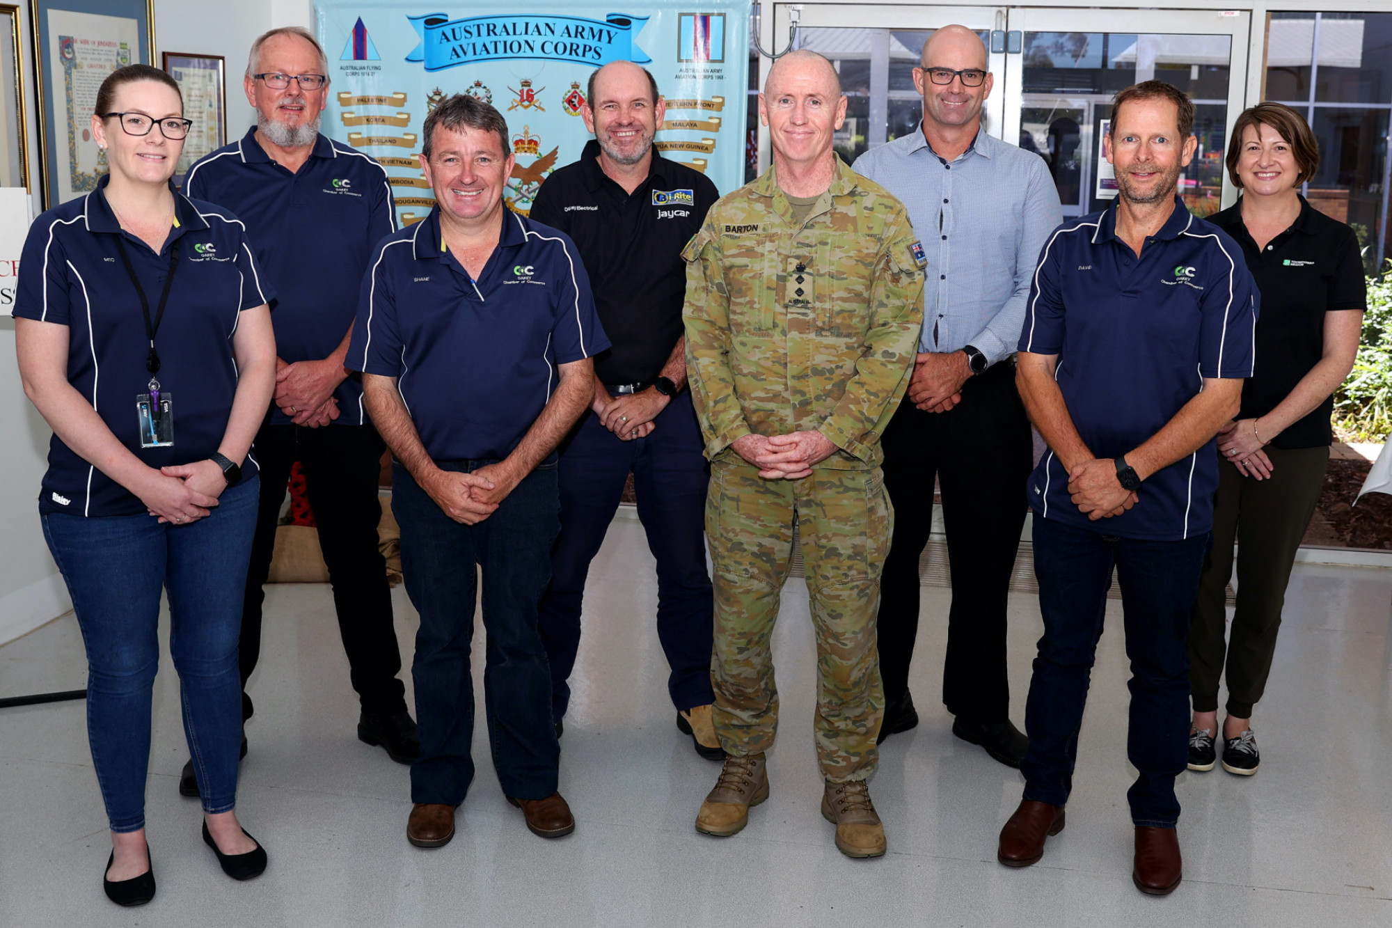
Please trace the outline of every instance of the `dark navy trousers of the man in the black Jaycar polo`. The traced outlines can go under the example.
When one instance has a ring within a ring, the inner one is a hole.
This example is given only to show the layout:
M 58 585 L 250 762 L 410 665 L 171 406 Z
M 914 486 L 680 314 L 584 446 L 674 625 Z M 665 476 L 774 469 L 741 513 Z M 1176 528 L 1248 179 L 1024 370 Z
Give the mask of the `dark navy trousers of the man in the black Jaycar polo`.
M 690 392 L 672 397 L 654 424 L 647 438 L 621 442 L 590 411 L 561 449 L 561 536 L 551 552 L 551 585 L 540 613 L 557 719 L 571 701 L 567 680 L 580 645 L 585 580 L 629 471 L 638 517 L 657 559 L 657 638 L 670 669 L 667 693 L 678 709 L 715 698 L 710 688 L 714 606 L 703 531 L 710 465 Z

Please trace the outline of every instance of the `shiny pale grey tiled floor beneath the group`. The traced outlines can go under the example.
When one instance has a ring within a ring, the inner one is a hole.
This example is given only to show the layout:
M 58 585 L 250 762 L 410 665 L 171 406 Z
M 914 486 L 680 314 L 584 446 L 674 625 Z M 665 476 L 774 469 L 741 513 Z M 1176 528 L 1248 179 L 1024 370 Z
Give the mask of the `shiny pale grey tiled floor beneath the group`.
M 692 828 L 718 766 L 672 726 L 638 523 L 615 521 L 590 588 L 562 740 L 574 836 L 546 842 L 523 829 L 498 793 L 479 726 L 479 778 L 458 836 L 441 850 L 408 846 L 406 768 L 354 737 L 329 589 L 273 587 L 238 796 L 242 821 L 270 853 L 266 875 L 223 876 L 199 839 L 198 803 L 177 793 L 187 754 L 166 659 L 148 790 L 159 896 L 128 911 L 102 895 L 109 839 L 82 704 L 6 709 L 0 925 L 1392 924 L 1392 571 L 1297 567 L 1256 718 L 1263 771 L 1180 779 L 1185 882 L 1166 899 L 1130 882 L 1119 603 L 1108 605 L 1068 830 L 1038 865 L 1013 871 L 994 856 L 1019 775 L 954 740 L 937 701 L 947 589 L 923 589 L 915 665 L 923 722 L 885 744 L 871 782 L 889 854 L 852 861 L 817 811 L 805 589 L 785 591 L 775 638 L 785 725 L 770 758 L 773 796 L 743 833 L 717 840 Z M 415 613 L 404 591 L 394 601 L 409 655 Z M 1040 620 L 1029 594 L 1012 594 L 1011 610 L 1022 722 Z M 84 676 L 71 617 L 0 648 L 0 695 L 81 687 Z

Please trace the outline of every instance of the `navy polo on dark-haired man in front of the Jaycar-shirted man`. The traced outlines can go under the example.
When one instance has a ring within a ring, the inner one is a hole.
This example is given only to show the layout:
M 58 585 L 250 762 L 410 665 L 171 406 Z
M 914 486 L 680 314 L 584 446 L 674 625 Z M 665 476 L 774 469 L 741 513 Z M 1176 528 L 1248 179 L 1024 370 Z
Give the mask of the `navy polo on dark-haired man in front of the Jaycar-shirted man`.
M 440 237 L 440 208 L 388 237 L 362 280 L 348 366 L 397 378 L 436 461 L 504 458 L 541 414 L 557 365 L 610 347 L 579 251 L 503 210 L 477 280 Z

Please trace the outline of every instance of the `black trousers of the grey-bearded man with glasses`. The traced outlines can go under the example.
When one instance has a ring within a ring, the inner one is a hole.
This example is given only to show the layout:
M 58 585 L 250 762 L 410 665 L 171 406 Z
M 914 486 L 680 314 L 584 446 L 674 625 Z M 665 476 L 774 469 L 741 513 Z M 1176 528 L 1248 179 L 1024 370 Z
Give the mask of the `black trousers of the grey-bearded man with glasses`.
M 406 687 L 397 680 L 401 649 L 391 624 L 391 588 L 387 563 L 377 548 L 377 477 L 386 449 L 370 425 L 262 425 L 253 454 L 260 464 L 262 495 L 256 538 L 246 571 L 242 606 L 241 673 L 242 718 L 252 716 L 246 680 L 260 656 L 262 585 L 270 573 L 276 527 L 285 502 L 290 468 L 301 463 L 305 492 L 315 510 L 319 545 L 329 564 L 338 633 L 348 654 L 352 688 L 363 712 L 400 712 L 406 708 Z

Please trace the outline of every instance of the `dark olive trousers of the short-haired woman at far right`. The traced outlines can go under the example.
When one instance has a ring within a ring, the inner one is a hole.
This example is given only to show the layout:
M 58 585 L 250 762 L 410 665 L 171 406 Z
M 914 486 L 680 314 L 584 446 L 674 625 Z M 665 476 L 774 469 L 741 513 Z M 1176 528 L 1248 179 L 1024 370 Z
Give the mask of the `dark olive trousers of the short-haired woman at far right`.
M 1261 699 L 1276 649 L 1286 584 L 1296 563 L 1300 539 L 1310 527 L 1328 447 L 1267 449 L 1275 470 L 1270 479 L 1243 477 L 1219 461 L 1218 495 L 1214 499 L 1214 548 L 1204 560 L 1199 599 L 1189 626 L 1189 681 L 1194 712 L 1218 709 L 1218 680 L 1228 669 L 1228 715 L 1250 719 Z M 1228 580 L 1232 577 L 1232 545 L 1237 550 L 1237 609 L 1232 616 L 1232 641 L 1224 641 L 1228 624 Z

